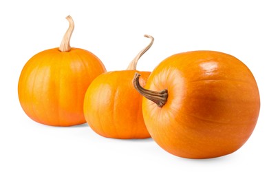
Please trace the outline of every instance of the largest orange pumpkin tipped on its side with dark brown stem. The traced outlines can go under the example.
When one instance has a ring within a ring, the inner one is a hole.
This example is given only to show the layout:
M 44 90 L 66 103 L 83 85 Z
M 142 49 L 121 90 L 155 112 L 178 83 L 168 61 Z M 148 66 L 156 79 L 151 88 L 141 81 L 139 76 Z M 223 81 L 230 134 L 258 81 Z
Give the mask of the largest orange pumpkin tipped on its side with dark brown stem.
M 145 89 L 144 122 L 151 137 L 183 158 L 214 158 L 239 149 L 260 109 L 254 76 L 238 59 L 213 51 L 175 54 L 155 67 Z

